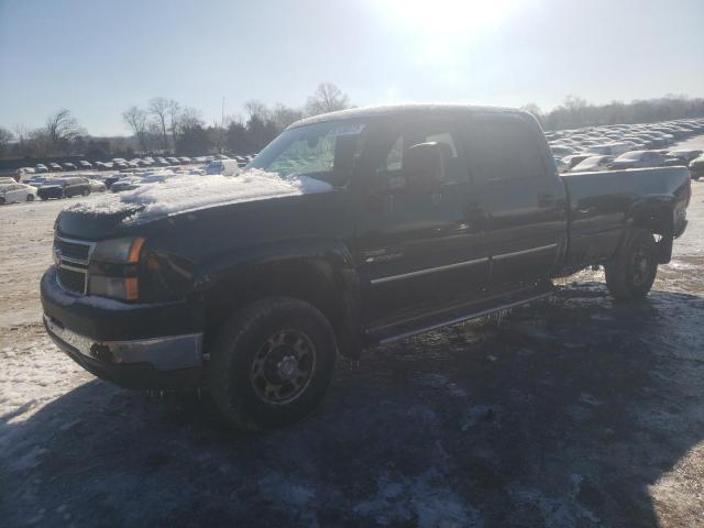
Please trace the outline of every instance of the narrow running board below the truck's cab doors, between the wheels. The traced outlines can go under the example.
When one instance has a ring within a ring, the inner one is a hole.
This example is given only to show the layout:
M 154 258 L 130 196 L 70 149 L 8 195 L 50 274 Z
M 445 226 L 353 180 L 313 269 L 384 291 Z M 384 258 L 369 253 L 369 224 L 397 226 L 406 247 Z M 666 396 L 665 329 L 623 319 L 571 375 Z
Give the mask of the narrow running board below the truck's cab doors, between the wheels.
M 547 287 L 543 286 L 541 288 L 531 288 L 529 292 L 524 293 L 524 297 L 508 296 L 505 301 L 499 305 L 487 306 L 487 304 L 485 302 L 476 302 L 470 307 L 465 306 L 465 309 L 471 310 L 466 311 L 465 314 L 460 314 L 460 309 L 454 309 L 443 314 L 444 317 L 442 319 L 438 318 L 432 322 L 426 319 L 425 321 L 415 320 L 414 322 L 419 326 L 414 326 L 413 328 L 413 322 L 382 327 L 374 330 L 367 330 L 366 337 L 376 344 L 387 344 L 392 341 L 410 338 L 411 336 L 417 336 L 419 333 L 430 332 L 439 328 L 491 316 L 492 314 L 496 314 L 497 311 L 518 308 L 519 306 L 550 297 L 554 295 L 554 293 L 556 288 L 550 284 Z

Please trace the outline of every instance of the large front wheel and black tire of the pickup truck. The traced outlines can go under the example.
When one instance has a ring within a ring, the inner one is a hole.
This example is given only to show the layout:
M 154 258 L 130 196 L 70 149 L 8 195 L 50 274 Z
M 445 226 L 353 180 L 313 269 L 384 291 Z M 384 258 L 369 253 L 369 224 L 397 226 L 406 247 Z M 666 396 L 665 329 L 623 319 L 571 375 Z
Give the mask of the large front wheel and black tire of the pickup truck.
M 237 429 L 275 429 L 310 415 L 337 362 L 334 332 L 314 306 L 268 297 L 233 314 L 211 350 L 209 388 Z

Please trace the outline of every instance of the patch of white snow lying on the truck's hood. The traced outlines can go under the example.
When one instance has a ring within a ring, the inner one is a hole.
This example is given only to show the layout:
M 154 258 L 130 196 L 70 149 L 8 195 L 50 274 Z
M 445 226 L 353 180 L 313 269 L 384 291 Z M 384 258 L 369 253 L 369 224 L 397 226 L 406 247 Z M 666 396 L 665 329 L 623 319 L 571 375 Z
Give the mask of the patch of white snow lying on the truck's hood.
M 330 190 L 332 186 L 315 178 L 284 179 L 275 173 L 252 169 L 237 177 L 172 176 L 163 183 L 145 184 L 139 189 L 77 204 L 66 210 L 94 215 L 127 212 L 125 223 L 139 223 L 205 207 Z

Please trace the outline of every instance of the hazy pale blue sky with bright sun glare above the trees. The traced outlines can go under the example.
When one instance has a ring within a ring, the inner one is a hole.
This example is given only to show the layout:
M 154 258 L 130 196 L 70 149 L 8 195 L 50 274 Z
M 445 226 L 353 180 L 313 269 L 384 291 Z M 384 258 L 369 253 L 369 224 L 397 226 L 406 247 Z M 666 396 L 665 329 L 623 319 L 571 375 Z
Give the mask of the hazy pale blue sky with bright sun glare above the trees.
M 704 0 L 0 0 L 0 127 L 94 135 L 163 96 L 208 123 L 330 81 L 356 106 L 704 97 Z

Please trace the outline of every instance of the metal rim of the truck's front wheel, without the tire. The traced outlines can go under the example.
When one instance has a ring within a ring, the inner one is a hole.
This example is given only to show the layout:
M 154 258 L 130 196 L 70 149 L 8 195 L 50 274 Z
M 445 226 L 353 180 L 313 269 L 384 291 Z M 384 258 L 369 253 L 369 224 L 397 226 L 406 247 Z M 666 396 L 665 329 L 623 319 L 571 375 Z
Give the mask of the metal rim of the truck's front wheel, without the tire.
M 263 402 L 288 404 L 308 388 L 315 367 L 316 348 L 310 338 L 298 330 L 283 330 L 256 351 L 250 382 Z

